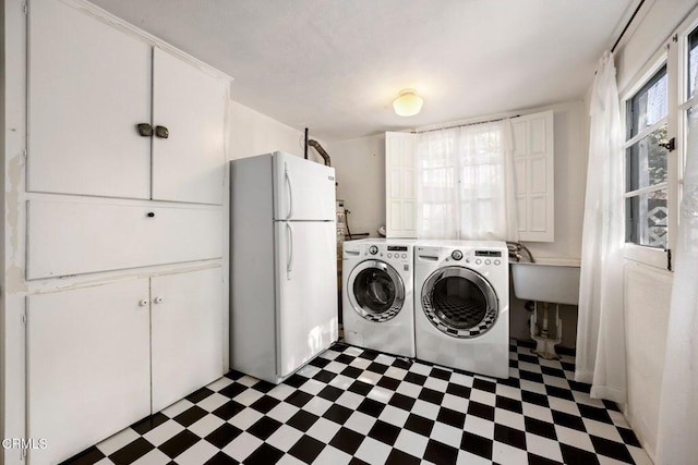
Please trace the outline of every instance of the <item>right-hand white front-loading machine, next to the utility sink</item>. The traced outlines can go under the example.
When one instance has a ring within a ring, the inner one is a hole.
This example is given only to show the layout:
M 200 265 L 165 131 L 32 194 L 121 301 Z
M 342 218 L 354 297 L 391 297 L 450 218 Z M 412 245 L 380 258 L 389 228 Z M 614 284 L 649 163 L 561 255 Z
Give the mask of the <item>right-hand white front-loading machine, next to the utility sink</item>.
M 414 343 L 418 359 L 508 378 L 506 243 L 423 241 L 414 247 Z

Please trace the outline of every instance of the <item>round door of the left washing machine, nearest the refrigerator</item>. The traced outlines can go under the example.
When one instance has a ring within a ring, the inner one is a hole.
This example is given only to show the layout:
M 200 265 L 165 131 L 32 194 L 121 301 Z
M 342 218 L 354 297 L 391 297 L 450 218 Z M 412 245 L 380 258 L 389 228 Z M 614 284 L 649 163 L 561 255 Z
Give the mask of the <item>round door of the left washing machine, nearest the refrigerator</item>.
M 405 304 L 405 284 L 400 274 L 381 260 L 365 260 L 357 265 L 347 280 L 349 302 L 366 320 L 388 321 Z

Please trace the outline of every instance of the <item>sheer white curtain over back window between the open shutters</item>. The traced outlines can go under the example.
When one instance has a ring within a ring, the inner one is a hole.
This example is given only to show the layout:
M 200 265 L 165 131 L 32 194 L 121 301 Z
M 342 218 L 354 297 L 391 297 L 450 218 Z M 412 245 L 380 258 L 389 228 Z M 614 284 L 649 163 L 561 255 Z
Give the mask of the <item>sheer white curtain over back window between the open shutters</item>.
M 508 121 L 421 133 L 417 236 L 518 241 Z

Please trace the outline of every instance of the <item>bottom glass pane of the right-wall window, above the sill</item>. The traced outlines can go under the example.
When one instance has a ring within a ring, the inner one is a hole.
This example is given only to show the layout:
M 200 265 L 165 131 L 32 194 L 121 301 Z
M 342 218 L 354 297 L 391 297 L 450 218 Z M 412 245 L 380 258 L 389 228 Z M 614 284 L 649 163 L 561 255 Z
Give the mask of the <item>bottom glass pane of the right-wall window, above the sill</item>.
M 666 248 L 666 189 L 627 198 L 625 241 Z

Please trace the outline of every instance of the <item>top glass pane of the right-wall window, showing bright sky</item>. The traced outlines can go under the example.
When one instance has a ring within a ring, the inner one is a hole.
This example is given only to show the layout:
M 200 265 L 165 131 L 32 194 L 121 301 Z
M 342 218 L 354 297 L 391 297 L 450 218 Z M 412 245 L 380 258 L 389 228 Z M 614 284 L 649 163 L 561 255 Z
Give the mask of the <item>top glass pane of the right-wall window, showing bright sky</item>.
M 666 66 L 628 100 L 628 136 L 633 138 L 642 130 L 666 117 Z

